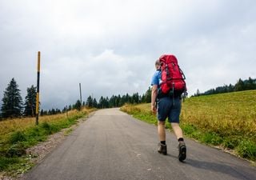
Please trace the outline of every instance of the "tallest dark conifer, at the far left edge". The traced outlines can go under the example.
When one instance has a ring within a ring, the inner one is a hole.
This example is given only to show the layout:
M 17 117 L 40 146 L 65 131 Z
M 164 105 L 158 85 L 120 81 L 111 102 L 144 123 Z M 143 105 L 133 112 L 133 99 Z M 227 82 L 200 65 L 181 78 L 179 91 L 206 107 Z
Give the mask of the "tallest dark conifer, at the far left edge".
M 22 96 L 14 78 L 11 79 L 6 91 L 4 91 L 2 102 L 3 118 L 19 117 L 22 115 Z

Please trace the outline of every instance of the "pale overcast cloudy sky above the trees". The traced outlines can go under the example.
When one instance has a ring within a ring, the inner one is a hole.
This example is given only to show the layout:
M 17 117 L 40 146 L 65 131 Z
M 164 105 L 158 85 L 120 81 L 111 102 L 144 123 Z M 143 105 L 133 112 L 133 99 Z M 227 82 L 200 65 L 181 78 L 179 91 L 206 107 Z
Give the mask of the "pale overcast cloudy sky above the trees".
M 15 78 L 42 109 L 79 98 L 143 94 L 154 62 L 175 54 L 188 93 L 256 78 L 254 0 L 1 0 L 0 98 Z M 2 104 L 2 101 L 1 101 Z M 1 106 L 1 105 L 0 105 Z

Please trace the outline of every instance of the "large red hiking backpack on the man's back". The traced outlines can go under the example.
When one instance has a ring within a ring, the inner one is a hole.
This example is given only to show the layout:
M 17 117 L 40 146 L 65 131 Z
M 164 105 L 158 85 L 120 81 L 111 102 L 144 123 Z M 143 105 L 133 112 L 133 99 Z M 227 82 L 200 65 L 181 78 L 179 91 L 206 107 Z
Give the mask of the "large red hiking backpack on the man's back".
M 172 54 L 165 54 L 159 58 L 161 63 L 160 90 L 162 94 L 169 94 L 172 90 L 174 96 L 186 94 L 185 75 L 178 66 L 177 58 Z

